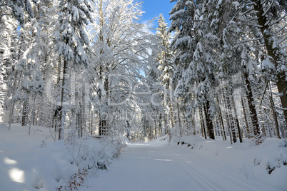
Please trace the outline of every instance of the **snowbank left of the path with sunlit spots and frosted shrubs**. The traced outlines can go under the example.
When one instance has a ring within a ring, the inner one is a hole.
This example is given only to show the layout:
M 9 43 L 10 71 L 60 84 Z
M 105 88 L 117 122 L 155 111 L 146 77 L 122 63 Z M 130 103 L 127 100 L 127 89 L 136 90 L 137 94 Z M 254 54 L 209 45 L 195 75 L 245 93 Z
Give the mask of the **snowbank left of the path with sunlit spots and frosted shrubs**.
M 0 190 L 65 190 L 71 181 L 81 184 L 83 168 L 95 171 L 118 152 L 94 138 L 54 141 L 49 128 L 34 126 L 31 135 L 28 129 L 14 124 L 9 131 L 0 124 Z

